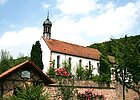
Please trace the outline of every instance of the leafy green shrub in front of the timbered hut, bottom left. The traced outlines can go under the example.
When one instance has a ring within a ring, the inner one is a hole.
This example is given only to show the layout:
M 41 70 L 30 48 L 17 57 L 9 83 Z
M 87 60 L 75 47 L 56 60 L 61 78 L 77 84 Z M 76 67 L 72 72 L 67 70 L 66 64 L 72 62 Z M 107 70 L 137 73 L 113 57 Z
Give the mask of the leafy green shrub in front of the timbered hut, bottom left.
M 26 85 L 26 87 L 20 88 L 20 90 L 16 90 L 16 95 L 4 98 L 4 100 L 50 100 L 50 95 L 45 91 L 43 85 Z

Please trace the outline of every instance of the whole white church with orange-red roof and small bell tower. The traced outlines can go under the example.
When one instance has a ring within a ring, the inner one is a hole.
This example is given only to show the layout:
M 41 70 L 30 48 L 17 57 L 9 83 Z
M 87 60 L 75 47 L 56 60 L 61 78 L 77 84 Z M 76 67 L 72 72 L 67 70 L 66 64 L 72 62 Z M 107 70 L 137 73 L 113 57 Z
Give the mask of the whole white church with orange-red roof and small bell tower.
M 52 67 L 62 67 L 62 63 L 66 61 L 71 67 L 72 74 L 75 74 L 77 67 L 80 65 L 84 68 L 93 69 L 94 74 L 98 74 L 100 65 L 100 52 L 97 49 L 88 48 L 51 38 L 52 23 L 49 15 L 43 23 L 43 36 L 40 44 L 43 55 L 43 71 L 48 72 Z

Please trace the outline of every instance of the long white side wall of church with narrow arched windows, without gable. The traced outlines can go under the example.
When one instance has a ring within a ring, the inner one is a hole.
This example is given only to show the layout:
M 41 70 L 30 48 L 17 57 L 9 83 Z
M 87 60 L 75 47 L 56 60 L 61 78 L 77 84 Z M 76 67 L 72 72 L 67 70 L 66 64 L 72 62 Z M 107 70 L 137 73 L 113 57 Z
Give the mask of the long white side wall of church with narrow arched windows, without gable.
M 91 62 L 91 65 L 93 65 L 93 74 L 98 74 L 98 65 L 99 61 L 93 60 L 93 59 L 87 59 L 87 58 L 81 58 L 66 54 L 60 54 L 60 53 L 52 53 L 52 60 L 55 60 L 55 68 L 57 68 L 57 56 L 60 56 L 60 66 L 62 66 L 62 62 L 68 61 L 69 58 L 71 58 L 71 70 L 72 73 L 75 74 L 75 71 L 79 65 L 79 60 L 82 61 L 82 66 L 86 68 L 85 66 L 89 66 L 89 61 Z

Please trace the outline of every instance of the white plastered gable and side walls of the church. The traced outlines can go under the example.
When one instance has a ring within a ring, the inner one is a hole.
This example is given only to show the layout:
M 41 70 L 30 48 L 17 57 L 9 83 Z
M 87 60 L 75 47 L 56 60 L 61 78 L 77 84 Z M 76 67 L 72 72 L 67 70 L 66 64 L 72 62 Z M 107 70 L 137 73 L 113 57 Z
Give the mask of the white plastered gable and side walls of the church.
M 98 64 L 100 63 L 100 61 L 61 54 L 61 53 L 55 53 L 55 52 L 52 52 L 52 56 L 51 56 L 51 51 L 48 48 L 47 44 L 44 42 L 43 38 L 41 38 L 40 44 L 42 49 L 42 62 L 44 65 L 44 69 L 43 69 L 44 73 L 48 72 L 48 69 L 50 67 L 50 61 L 55 60 L 55 68 L 57 68 L 57 56 L 60 56 L 60 66 L 62 66 L 62 62 L 68 61 L 68 59 L 71 58 L 71 70 L 73 74 L 75 74 L 77 66 L 79 65 L 79 60 L 82 61 L 82 66 L 84 68 L 86 68 L 85 66 L 89 66 L 89 61 L 90 61 L 91 65 L 93 65 L 94 68 L 93 74 L 98 74 Z

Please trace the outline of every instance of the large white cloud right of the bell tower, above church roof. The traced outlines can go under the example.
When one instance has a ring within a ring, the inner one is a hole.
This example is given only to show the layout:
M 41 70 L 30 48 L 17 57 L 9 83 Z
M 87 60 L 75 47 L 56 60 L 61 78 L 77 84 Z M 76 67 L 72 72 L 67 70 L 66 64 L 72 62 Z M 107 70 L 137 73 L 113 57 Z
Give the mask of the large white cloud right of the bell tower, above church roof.
M 66 41 L 77 41 L 75 43 L 81 45 L 89 44 L 89 41 L 85 40 L 85 35 L 93 37 L 93 40 L 90 40 L 90 42 L 99 39 L 100 37 L 109 40 L 109 38 L 113 35 L 124 33 L 127 34 L 127 32 L 135 27 L 138 18 L 140 18 L 140 2 L 130 2 L 120 7 L 116 7 L 116 5 L 112 2 L 108 2 L 107 4 L 96 4 L 98 10 L 100 9 L 98 15 L 90 13 L 81 17 L 78 15 L 79 13 L 86 14 L 95 8 L 93 3 L 91 3 L 92 6 L 88 7 L 88 2 L 91 1 L 59 1 L 57 6 L 62 13 L 60 14 L 61 17 L 57 18 L 53 23 L 52 29 L 52 34 L 55 34 L 57 39 L 62 39 L 63 37 L 63 39 L 65 38 L 64 40 Z M 85 4 L 86 7 L 83 6 L 83 4 Z M 70 10 L 70 8 L 72 9 Z M 76 20 L 69 14 L 77 15 Z

